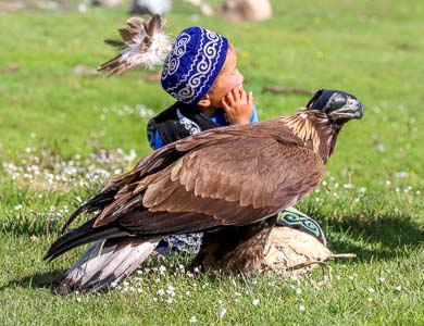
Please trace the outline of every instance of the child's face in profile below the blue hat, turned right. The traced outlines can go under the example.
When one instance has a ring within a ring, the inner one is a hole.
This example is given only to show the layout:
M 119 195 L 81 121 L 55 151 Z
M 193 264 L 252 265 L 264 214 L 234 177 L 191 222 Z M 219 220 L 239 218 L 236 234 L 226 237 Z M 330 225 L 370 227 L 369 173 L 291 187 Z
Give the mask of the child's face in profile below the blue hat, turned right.
M 234 88 L 241 87 L 245 80 L 244 75 L 237 68 L 237 55 L 233 46 L 228 45 L 227 57 L 224 65 L 208 92 L 211 106 L 222 106 L 222 99 Z

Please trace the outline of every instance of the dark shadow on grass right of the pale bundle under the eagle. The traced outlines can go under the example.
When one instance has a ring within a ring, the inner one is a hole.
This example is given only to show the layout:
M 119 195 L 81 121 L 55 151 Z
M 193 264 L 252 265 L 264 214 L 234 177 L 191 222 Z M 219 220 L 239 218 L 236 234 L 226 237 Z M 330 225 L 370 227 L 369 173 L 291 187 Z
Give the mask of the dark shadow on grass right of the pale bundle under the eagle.
M 365 261 L 406 254 L 424 239 L 424 227 L 408 216 L 364 218 L 352 215 L 328 221 L 328 226 L 333 251 L 348 250 Z

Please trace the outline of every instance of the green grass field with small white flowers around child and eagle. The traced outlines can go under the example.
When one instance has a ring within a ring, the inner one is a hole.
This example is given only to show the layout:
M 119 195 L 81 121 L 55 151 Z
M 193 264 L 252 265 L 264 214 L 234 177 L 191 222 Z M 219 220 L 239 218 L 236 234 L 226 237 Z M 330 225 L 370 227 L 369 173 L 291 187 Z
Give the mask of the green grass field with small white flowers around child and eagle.
M 1 325 L 424 324 L 424 4 L 272 2 L 272 21 L 237 24 L 179 3 L 167 30 L 199 24 L 227 36 L 261 120 L 308 101 L 263 86 L 359 97 L 363 120 L 346 126 L 325 184 L 297 205 L 322 223 L 334 251 L 358 259 L 331 263 L 332 287 L 321 271 L 190 275 L 182 268 L 190 258 L 179 256 L 149 261 L 109 293 L 52 293 L 51 280 L 82 252 L 42 261 L 63 220 L 150 152 L 146 122 L 173 100 L 145 72 L 73 72 L 113 55 L 102 40 L 116 35 L 127 5 L 0 12 Z

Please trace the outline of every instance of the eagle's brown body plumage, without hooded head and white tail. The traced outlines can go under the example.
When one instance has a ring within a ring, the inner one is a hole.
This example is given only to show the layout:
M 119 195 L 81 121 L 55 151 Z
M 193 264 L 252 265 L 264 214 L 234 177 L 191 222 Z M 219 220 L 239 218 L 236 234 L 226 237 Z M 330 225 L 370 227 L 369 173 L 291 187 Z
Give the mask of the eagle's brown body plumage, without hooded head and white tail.
M 358 108 L 340 110 L 342 123 L 360 117 L 352 113 Z M 65 227 L 83 211 L 99 213 L 58 239 L 46 258 L 103 239 L 154 243 L 162 235 L 205 231 L 197 264 L 223 273 L 258 269 L 275 213 L 297 203 L 323 177 L 342 125 L 332 118 L 335 113 L 301 109 L 170 143 L 79 208 Z

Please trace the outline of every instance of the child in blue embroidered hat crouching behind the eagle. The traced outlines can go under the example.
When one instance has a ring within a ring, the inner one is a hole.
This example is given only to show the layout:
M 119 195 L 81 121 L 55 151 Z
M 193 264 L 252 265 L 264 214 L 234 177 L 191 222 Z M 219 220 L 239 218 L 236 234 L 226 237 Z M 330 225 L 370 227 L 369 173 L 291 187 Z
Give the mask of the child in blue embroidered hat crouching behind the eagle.
M 184 29 L 173 43 L 161 77 L 163 89 L 177 102 L 149 121 L 150 146 L 155 150 L 210 128 L 258 122 L 253 95 L 242 83 L 236 52 L 225 37 L 198 26 Z M 280 212 L 279 217 L 278 224 L 307 231 L 326 243 L 312 218 L 294 209 Z M 158 250 L 166 253 L 169 242 L 177 251 L 196 250 L 201 235 L 165 237 Z

